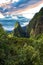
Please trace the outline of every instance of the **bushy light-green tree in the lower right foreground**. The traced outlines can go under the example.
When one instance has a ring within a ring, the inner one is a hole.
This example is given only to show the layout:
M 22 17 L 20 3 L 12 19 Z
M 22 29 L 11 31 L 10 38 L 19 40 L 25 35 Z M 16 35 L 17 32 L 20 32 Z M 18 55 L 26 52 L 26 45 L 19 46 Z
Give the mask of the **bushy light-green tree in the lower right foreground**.
M 24 45 L 19 50 L 17 65 L 40 65 L 39 52 L 32 46 Z

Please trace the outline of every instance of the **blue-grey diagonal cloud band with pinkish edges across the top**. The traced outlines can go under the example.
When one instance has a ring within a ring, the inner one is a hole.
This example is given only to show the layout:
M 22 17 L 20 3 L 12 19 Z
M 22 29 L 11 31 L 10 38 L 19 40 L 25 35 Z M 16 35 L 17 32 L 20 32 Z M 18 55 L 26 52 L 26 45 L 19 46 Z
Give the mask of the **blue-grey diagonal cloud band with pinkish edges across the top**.
M 29 5 L 33 5 L 37 2 L 39 2 L 40 0 L 1 0 L 0 1 L 0 6 L 3 7 L 2 12 L 3 13 L 7 13 L 7 12 L 11 12 L 11 11 L 18 11 L 21 9 L 26 8 Z M 4 4 L 3 4 L 4 3 Z

